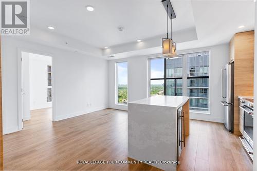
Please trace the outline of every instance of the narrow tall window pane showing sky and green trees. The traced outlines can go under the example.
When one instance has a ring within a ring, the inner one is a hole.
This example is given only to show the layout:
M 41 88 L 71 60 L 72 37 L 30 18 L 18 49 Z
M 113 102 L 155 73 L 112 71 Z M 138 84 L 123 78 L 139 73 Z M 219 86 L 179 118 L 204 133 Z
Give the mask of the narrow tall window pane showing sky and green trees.
M 117 89 L 116 103 L 127 104 L 127 62 L 116 63 Z

